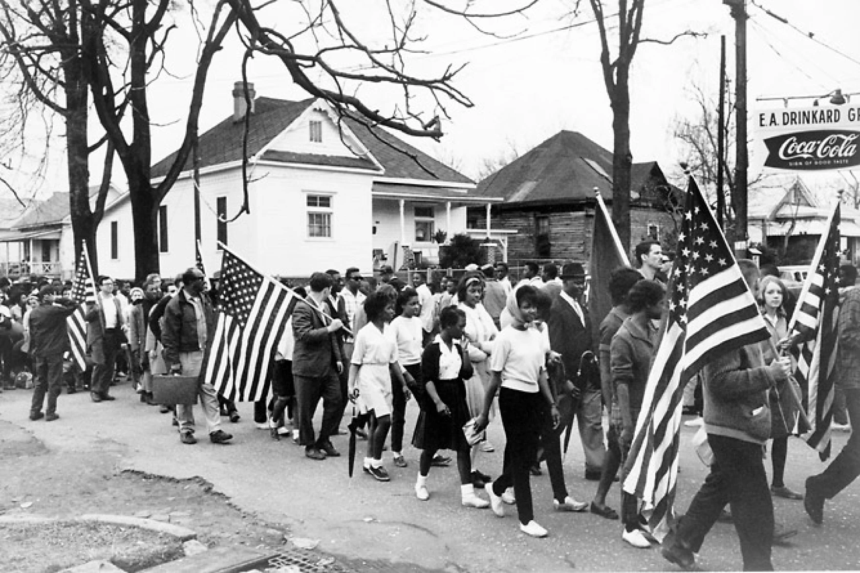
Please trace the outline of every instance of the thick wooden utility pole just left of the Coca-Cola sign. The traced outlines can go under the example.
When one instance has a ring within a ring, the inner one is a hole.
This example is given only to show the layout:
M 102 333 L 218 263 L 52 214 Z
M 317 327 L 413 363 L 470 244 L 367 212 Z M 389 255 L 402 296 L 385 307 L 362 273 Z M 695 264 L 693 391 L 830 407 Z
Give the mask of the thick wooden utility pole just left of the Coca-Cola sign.
M 734 230 L 731 234 L 734 241 L 735 256 L 746 256 L 746 170 L 748 157 L 746 152 L 746 0 L 722 0 L 731 9 L 734 18 L 734 72 L 737 94 L 735 105 L 735 141 L 734 160 Z

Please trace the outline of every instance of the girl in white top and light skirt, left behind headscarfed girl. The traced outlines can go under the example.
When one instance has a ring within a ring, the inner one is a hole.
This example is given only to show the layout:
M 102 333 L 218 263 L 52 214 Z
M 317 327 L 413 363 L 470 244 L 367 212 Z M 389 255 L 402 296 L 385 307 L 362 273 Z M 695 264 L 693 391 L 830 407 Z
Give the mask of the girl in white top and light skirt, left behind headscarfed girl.
M 469 341 L 469 360 L 472 363 L 472 376 L 465 380 L 466 404 L 469 405 L 470 414 L 474 417 L 481 413 L 484 397 L 487 393 L 490 377 L 487 368 L 487 360 L 493 354 L 494 338 L 499 333 L 495 328 L 493 318 L 489 316 L 483 307 L 484 282 L 481 273 L 464 274 L 457 289 L 459 300 L 458 308 L 466 315 L 466 328 L 463 336 Z M 494 414 L 494 412 L 492 412 Z M 494 447 L 484 441 L 472 447 L 472 483 L 476 487 L 483 487 L 490 477 L 477 469 L 477 453 L 479 448 L 485 452 L 492 452 Z

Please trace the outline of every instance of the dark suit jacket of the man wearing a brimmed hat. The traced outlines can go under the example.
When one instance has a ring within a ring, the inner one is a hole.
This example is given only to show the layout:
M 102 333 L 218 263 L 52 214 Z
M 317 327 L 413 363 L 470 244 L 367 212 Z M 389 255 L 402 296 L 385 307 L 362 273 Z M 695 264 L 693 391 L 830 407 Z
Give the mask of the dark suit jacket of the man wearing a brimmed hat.
M 584 305 L 580 305 L 582 316 L 586 323 L 583 324 L 576 311 L 563 297 L 558 297 L 552 303 L 550 320 L 550 346 L 557 353 L 562 354 L 562 364 L 568 379 L 573 380 L 580 390 L 600 389 L 600 375 L 597 369 L 585 376 L 584 380 L 576 380 L 576 373 L 580 370 L 582 354 L 591 351 L 593 353 L 592 325 L 588 317 L 588 311 Z

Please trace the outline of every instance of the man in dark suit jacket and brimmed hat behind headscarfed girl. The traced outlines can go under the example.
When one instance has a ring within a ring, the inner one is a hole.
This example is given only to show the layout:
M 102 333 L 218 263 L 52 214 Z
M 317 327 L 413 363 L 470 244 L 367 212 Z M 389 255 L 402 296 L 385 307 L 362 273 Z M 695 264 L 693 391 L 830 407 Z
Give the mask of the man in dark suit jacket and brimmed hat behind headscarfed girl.
M 580 403 L 576 419 L 580 430 L 582 449 L 586 454 L 586 479 L 598 481 L 606 453 L 603 439 L 600 377 L 596 365 L 590 364 L 588 355 L 594 356 L 592 324 L 588 311 L 581 305 L 580 298 L 586 284 L 586 273 L 582 265 L 572 262 L 562 268 L 562 292 L 552 304 L 550 311 L 550 345 L 562 354 L 562 363 L 568 379 L 574 380 L 580 370 L 581 362 L 589 366 L 578 382 Z M 590 367 L 593 366 L 593 367 Z

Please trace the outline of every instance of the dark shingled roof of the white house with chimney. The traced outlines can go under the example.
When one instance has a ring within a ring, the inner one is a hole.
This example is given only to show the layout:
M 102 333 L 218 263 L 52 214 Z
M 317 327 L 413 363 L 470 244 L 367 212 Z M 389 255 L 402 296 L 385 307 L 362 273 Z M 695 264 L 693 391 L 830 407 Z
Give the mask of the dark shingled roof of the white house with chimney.
M 267 145 L 272 139 L 283 132 L 287 126 L 298 119 L 305 109 L 315 100 L 313 98 L 301 102 L 289 102 L 277 100 L 270 97 L 258 97 L 255 100 L 255 112 L 251 116 L 248 154 L 249 157 Z M 418 179 L 428 182 L 457 182 L 472 184 L 466 176 L 451 169 L 444 163 L 440 163 L 428 156 L 423 151 L 415 149 L 412 145 L 386 132 L 380 127 L 368 128 L 358 121 L 346 119 L 347 126 L 355 133 L 361 143 L 376 157 L 385 169 L 384 177 L 396 179 Z M 234 122 L 232 115 L 223 120 L 217 126 L 200 135 L 199 157 L 200 168 L 211 167 L 221 163 L 231 163 L 242 159 L 242 137 L 244 122 Z M 396 149 L 391 149 L 389 145 Z M 400 151 L 406 151 L 417 158 L 430 173 L 427 173 L 409 157 Z M 151 176 L 153 179 L 167 175 L 170 165 L 175 158 L 175 152 L 171 153 L 152 166 Z M 369 160 L 362 157 L 332 157 L 314 156 L 313 154 L 297 154 L 289 152 L 267 152 L 266 159 L 284 161 L 287 163 L 310 163 L 319 165 L 338 165 L 345 167 L 359 167 L 365 169 L 376 169 Z M 192 169 L 191 158 L 185 163 L 183 170 Z

